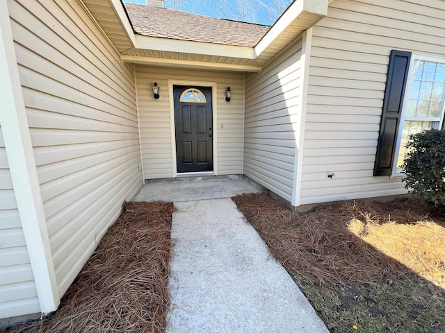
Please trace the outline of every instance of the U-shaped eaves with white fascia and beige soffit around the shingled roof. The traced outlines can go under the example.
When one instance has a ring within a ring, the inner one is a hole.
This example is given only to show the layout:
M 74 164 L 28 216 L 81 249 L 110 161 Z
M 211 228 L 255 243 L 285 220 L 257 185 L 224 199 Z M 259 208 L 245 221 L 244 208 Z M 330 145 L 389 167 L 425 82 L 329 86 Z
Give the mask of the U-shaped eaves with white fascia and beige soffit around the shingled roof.
M 261 71 L 307 28 L 327 14 L 327 0 L 296 0 L 257 46 L 236 46 L 134 33 L 120 0 L 79 0 L 88 8 L 124 62 L 228 71 Z

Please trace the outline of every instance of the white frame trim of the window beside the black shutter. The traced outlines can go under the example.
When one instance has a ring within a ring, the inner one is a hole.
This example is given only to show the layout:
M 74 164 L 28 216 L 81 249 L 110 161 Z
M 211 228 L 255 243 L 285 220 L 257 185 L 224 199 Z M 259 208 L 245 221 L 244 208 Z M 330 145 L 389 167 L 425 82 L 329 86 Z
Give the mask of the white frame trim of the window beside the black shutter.
M 443 107 L 443 110 L 442 110 L 442 117 L 439 117 L 439 119 L 437 117 L 419 117 L 419 118 L 405 117 L 406 105 L 407 105 L 407 103 L 406 103 L 407 101 L 406 100 L 407 100 L 408 93 L 410 92 L 411 83 L 412 83 L 412 80 L 411 80 L 412 71 L 413 71 L 413 67 L 414 67 L 414 62 L 416 60 L 425 60 L 425 61 L 430 61 L 430 62 L 442 62 L 442 63 L 445 64 L 445 58 L 424 56 L 424 55 L 422 55 L 420 53 L 412 53 L 411 54 L 410 69 L 408 71 L 408 78 L 407 78 L 407 83 L 406 83 L 406 87 L 405 87 L 405 95 L 403 96 L 403 109 L 402 109 L 402 114 L 401 114 L 401 120 L 400 120 L 400 123 L 398 125 L 396 150 L 394 151 L 393 166 L 392 166 L 392 171 L 391 171 L 391 178 L 405 177 L 405 173 L 397 172 L 398 152 L 401 149 L 402 134 L 403 134 L 403 124 L 405 123 L 405 121 L 439 121 L 439 128 L 442 128 L 442 123 L 443 123 L 444 117 L 445 117 L 445 103 L 444 103 L 444 107 Z

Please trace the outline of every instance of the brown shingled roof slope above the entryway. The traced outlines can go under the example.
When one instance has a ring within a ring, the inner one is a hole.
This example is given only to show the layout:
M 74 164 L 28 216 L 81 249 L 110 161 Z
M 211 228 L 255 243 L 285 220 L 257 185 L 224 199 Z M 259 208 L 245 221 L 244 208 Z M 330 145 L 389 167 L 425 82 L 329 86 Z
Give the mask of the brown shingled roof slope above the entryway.
M 124 3 L 133 29 L 140 35 L 236 46 L 255 46 L 270 26 Z

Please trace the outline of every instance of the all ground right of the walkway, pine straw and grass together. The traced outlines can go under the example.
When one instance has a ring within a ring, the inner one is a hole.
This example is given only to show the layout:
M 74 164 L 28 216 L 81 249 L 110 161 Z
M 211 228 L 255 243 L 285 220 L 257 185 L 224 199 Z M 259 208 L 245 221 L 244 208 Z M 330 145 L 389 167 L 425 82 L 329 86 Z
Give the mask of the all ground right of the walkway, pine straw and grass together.
M 291 212 L 234 198 L 330 332 L 445 332 L 445 215 L 419 200 Z

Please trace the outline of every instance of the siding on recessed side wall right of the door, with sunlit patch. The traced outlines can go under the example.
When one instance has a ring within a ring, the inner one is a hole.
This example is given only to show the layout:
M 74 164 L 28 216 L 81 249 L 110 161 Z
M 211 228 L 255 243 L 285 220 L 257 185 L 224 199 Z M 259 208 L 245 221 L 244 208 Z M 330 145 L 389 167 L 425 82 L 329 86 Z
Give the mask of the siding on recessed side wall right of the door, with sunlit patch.
M 300 126 L 301 44 L 245 78 L 244 174 L 289 201 Z

